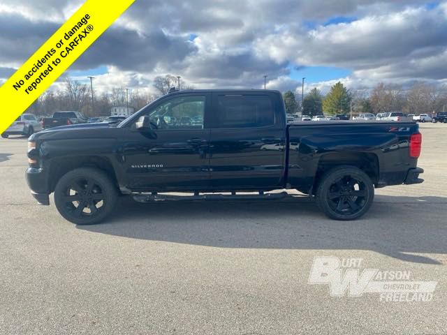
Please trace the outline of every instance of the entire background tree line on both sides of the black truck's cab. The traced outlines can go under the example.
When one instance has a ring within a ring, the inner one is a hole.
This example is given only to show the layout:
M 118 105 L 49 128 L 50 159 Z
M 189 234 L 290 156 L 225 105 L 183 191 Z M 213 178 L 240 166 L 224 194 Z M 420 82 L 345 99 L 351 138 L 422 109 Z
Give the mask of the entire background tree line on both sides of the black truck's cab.
M 159 96 L 168 94 L 171 87 L 193 89 L 191 85 L 174 75 L 163 75 L 154 78 L 155 94 L 147 93 L 145 89 L 131 89 L 129 96 L 124 87 L 112 89 L 102 94 L 94 92 L 93 105 L 89 84 L 83 84 L 70 77 L 64 79 L 64 89 L 47 90 L 28 109 L 36 115 L 51 115 L 60 110 L 75 110 L 87 117 L 110 115 L 113 106 L 126 106 L 135 111 L 140 110 Z M 397 85 L 379 83 L 372 90 L 350 90 L 344 84 L 337 82 L 325 96 L 317 88 L 305 95 L 303 101 L 295 98 L 292 91 L 284 93 L 284 103 L 288 114 L 302 112 L 304 115 L 335 115 L 384 113 L 400 111 L 406 114 L 432 114 L 442 112 L 447 108 L 447 87 L 439 87 L 426 82 L 415 82 L 409 89 Z

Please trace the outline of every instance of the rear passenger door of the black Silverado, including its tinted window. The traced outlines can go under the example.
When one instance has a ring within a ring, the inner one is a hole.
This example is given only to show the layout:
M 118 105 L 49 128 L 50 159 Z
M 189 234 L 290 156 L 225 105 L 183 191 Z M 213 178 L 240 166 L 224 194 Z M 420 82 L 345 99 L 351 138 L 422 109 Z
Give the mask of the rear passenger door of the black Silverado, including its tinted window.
M 286 120 L 274 92 L 214 92 L 210 184 L 216 190 L 260 190 L 283 184 Z

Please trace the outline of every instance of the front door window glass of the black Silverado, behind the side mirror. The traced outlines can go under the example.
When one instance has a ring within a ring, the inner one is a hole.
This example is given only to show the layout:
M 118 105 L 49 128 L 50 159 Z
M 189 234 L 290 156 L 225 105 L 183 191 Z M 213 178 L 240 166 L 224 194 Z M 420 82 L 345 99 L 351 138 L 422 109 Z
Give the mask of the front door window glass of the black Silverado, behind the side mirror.
M 150 114 L 152 124 L 159 129 L 203 129 L 205 96 L 173 98 Z

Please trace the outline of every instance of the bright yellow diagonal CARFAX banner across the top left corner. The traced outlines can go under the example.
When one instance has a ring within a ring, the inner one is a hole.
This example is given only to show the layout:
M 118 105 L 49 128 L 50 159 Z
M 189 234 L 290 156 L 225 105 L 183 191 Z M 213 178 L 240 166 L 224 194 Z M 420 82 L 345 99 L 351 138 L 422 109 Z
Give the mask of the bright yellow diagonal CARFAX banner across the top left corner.
M 87 0 L 43 43 L 0 87 L 0 133 L 43 94 L 133 1 Z

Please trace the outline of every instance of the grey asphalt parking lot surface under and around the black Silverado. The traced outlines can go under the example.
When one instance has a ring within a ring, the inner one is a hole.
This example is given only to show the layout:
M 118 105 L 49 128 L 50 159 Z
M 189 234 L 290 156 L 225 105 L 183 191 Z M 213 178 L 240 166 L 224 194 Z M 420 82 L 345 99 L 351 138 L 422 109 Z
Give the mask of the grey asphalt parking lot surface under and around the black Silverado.
M 307 198 L 123 198 L 76 226 L 38 206 L 27 140 L 0 139 L 0 334 L 447 334 L 447 124 L 422 124 L 425 183 L 376 190 L 359 221 Z M 430 301 L 332 297 L 316 256 L 437 281 Z

